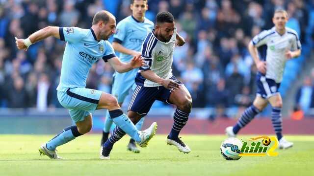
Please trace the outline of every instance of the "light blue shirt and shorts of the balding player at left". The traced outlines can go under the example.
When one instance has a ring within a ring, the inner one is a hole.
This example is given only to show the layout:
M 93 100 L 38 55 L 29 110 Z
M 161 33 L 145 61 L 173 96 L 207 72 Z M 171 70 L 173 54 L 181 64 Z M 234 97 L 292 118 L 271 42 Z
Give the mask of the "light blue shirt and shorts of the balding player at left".
M 72 120 L 79 122 L 96 110 L 102 95 L 102 91 L 85 88 L 89 69 L 100 58 L 107 62 L 116 55 L 108 41 L 97 41 L 93 29 L 60 27 L 59 35 L 67 44 L 57 96 Z

